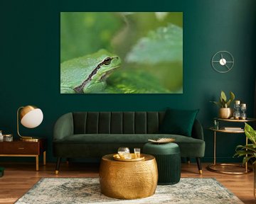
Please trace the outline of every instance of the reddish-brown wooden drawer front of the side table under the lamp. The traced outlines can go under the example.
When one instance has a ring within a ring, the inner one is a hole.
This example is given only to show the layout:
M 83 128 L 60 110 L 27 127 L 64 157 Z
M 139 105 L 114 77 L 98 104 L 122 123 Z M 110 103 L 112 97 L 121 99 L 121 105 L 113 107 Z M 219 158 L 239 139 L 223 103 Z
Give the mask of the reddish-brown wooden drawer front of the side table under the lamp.
M 39 147 L 34 142 L 6 143 L 1 145 L 3 148 L 0 149 L 0 154 L 39 154 Z

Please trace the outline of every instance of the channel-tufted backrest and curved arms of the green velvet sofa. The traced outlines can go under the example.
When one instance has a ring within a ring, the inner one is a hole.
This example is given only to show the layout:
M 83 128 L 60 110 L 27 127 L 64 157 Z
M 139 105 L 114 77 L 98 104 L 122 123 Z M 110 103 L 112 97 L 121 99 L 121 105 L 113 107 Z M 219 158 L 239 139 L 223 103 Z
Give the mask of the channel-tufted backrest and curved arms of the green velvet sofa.
M 78 134 L 159 134 L 164 111 L 73 112 L 61 115 L 53 128 L 53 141 Z M 203 140 L 196 119 L 191 137 Z

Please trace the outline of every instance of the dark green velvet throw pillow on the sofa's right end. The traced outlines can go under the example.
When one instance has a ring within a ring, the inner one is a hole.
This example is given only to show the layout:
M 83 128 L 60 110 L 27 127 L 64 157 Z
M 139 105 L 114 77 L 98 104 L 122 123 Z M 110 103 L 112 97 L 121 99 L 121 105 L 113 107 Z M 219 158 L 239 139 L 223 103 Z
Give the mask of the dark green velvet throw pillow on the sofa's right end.
M 159 131 L 163 134 L 184 135 L 191 137 L 197 110 L 178 110 L 168 108 Z

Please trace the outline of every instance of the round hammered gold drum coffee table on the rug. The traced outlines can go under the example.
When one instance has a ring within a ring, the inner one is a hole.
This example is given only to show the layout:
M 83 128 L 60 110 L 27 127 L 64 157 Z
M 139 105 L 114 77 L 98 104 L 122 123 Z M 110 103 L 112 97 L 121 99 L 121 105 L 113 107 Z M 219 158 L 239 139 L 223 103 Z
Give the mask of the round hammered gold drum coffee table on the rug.
M 145 157 L 142 161 L 119 162 L 113 159 L 113 155 L 105 155 L 100 162 L 101 193 L 119 199 L 153 196 L 158 179 L 154 156 L 141 154 Z

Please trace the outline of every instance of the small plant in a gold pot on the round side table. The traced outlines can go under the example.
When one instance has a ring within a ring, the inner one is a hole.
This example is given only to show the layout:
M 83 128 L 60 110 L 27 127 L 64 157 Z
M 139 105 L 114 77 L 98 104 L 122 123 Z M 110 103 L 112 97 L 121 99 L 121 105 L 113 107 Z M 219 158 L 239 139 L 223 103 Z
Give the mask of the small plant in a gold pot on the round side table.
M 220 118 L 231 118 L 233 116 L 233 108 L 230 108 L 230 104 L 235 99 L 235 94 L 230 91 L 230 99 L 227 98 L 224 91 L 220 92 L 220 101 L 210 101 L 220 107 L 219 117 Z

